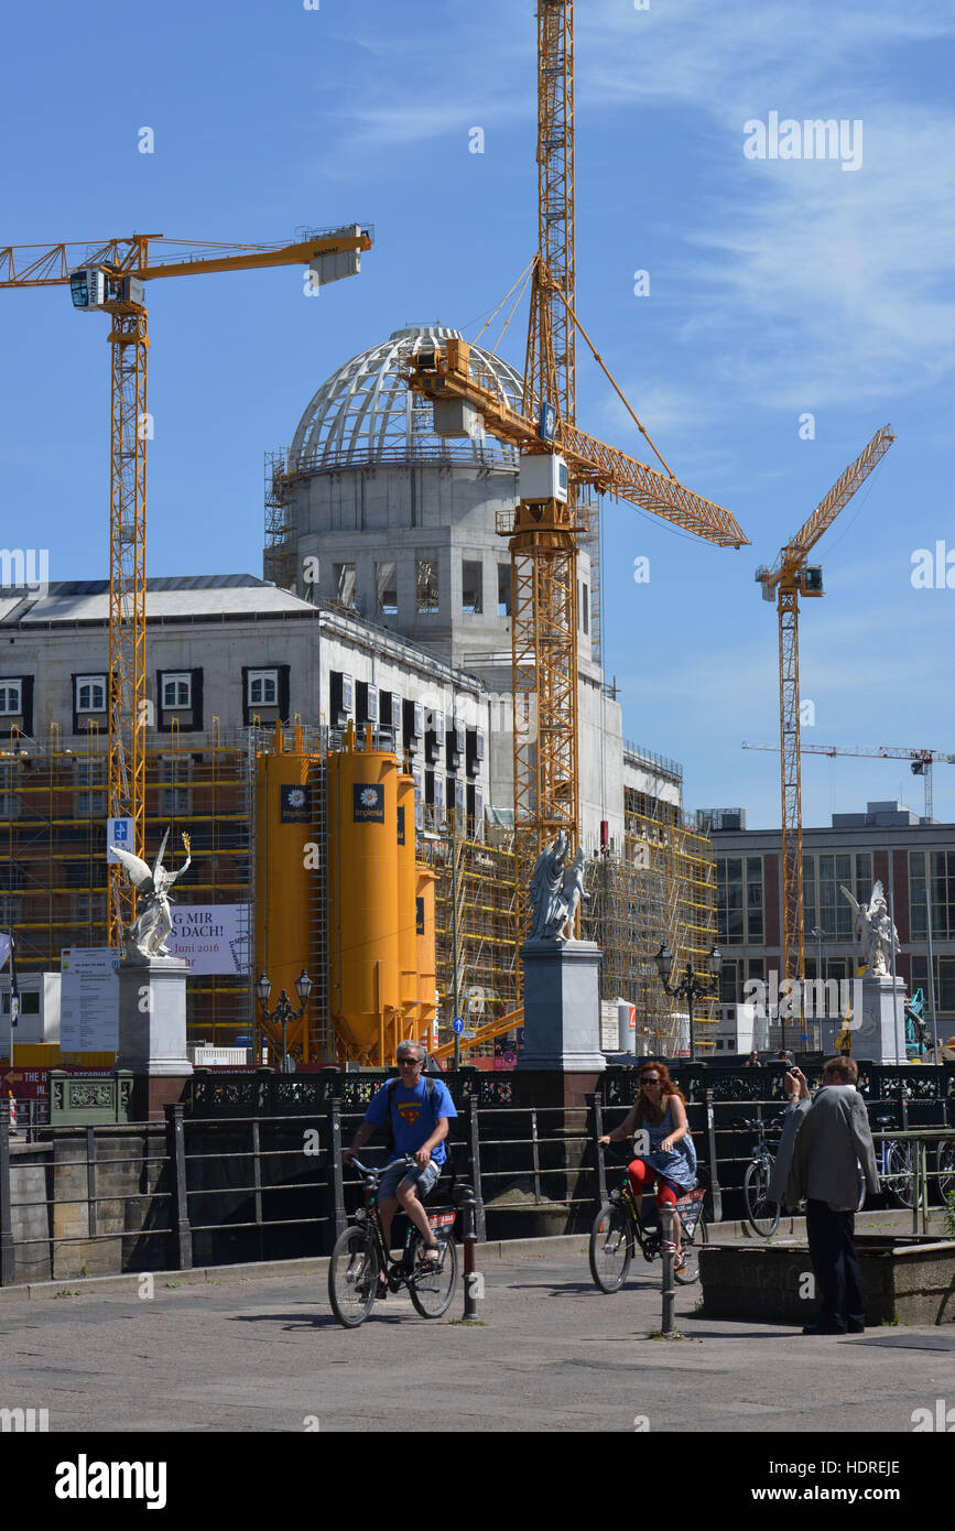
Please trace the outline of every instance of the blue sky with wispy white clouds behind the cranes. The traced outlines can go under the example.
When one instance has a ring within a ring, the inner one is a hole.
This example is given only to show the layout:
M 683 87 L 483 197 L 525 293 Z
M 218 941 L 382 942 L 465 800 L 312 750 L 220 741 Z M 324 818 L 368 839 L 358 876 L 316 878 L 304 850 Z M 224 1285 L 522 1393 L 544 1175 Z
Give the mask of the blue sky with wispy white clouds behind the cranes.
M 150 288 L 150 573 L 260 573 L 263 453 L 328 374 L 404 323 L 474 337 L 534 251 L 534 6 L 167 0 L 87 21 L 52 0 L 5 23 L 0 243 L 375 225 L 361 276 L 317 299 L 295 268 Z M 779 822 L 774 756 L 739 747 L 779 727 L 755 566 L 886 423 L 897 442 L 817 548 L 803 739 L 955 752 L 955 588 L 911 580 L 944 542 L 955 586 L 953 41 L 947 0 L 577 5 L 579 312 L 676 475 L 753 542 L 608 505 L 605 664 L 687 805 L 750 827 Z M 747 158 L 771 112 L 862 122 L 860 167 Z M 517 367 L 522 331 L 500 346 Z M 52 579 L 109 568 L 106 334 L 61 288 L 0 292 L 0 540 L 49 548 Z M 579 423 L 641 456 L 583 357 Z M 921 811 L 904 761 L 803 761 L 807 825 L 898 795 Z M 955 819 L 955 767 L 935 814 Z

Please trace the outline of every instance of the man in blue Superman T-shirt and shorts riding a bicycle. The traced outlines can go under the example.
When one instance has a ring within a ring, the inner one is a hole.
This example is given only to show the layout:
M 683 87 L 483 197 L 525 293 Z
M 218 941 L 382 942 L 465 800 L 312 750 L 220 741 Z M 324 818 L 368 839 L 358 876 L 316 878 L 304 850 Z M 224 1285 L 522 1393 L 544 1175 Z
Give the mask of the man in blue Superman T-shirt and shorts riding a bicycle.
M 392 1222 L 401 1206 L 424 1239 L 425 1265 L 438 1265 L 441 1248 L 435 1239 L 427 1213 L 418 1197 L 427 1196 L 438 1183 L 441 1167 L 447 1159 L 444 1139 L 448 1134 L 448 1118 L 458 1116 L 455 1102 L 441 1079 L 422 1079 L 421 1070 L 427 1053 L 418 1043 L 398 1044 L 398 1079 L 389 1079 L 378 1090 L 361 1122 L 350 1148 L 343 1159 L 369 1141 L 375 1128 L 389 1119 L 395 1139 L 395 1154 L 410 1154 L 415 1168 L 398 1164 L 387 1170 L 378 1183 L 378 1211 L 386 1246 L 390 1249 Z

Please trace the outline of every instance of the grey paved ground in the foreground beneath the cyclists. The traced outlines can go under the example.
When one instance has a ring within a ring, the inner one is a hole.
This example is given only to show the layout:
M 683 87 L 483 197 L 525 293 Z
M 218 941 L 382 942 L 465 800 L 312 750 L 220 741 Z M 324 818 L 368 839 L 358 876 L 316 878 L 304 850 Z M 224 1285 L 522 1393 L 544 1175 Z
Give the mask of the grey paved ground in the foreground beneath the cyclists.
M 915 1409 L 955 1404 L 950 1327 L 803 1338 L 695 1317 L 699 1289 L 681 1288 L 686 1338 L 654 1340 L 660 1266 L 634 1268 L 605 1297 L 586 1242 L 560 1245 L 485 1260 L 481 1326 L 450 1321 L 461 1298 L 427 1321 L 401 1294 L 344 1330 L 318 1262 L 246 1280 L 158 1275 L 153 1298 L 81 1283 L 80 1297 L 3 1303 L 0 1407 L 47 1409 L 51 1431 L 84 1436 L 315 1421 L 321 1431 L 629 1433 L 646 1421 L 650 1431 L 909 1435 Z

